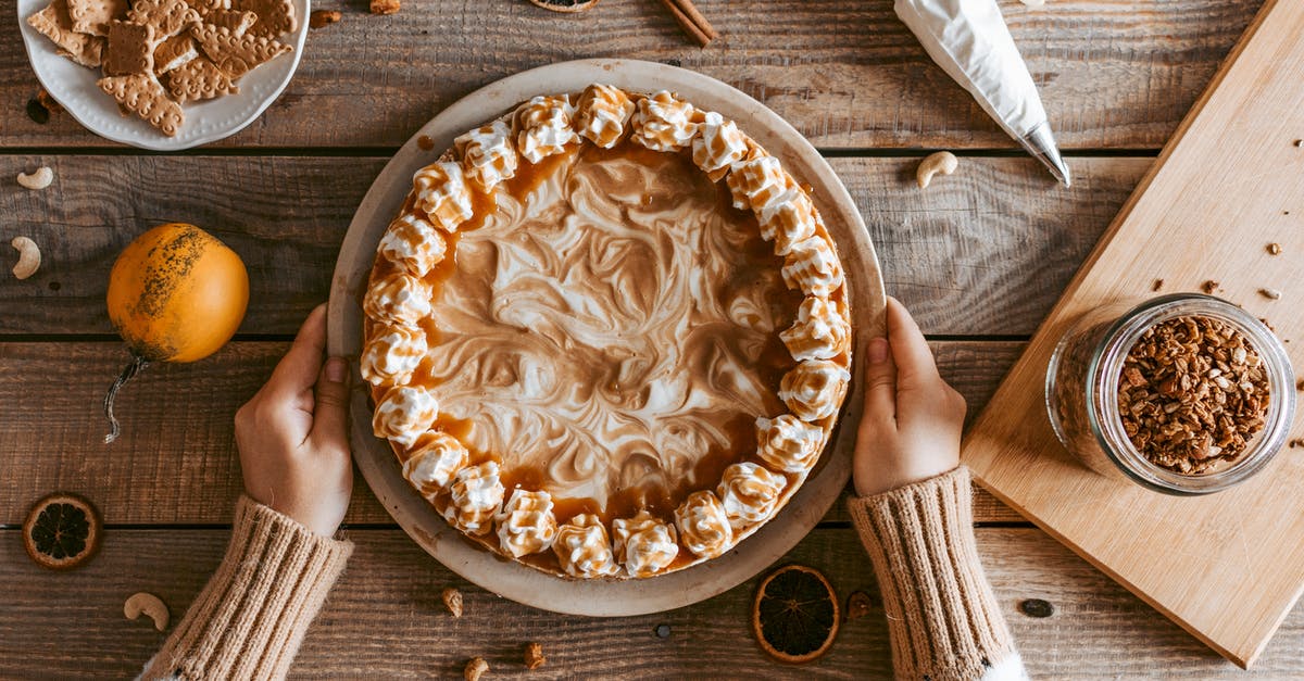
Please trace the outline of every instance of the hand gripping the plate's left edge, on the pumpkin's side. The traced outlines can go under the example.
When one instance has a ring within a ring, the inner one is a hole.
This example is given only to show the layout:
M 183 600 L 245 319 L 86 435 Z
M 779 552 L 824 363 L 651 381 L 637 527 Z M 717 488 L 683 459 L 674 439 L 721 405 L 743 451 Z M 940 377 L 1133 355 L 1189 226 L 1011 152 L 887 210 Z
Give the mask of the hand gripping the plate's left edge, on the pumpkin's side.
M 348 363 L 326 350 L 318 305 L 273 371 L 236 412 L 245 492 L 322 536 L 344 519 L 353 491 L 348 458 Z

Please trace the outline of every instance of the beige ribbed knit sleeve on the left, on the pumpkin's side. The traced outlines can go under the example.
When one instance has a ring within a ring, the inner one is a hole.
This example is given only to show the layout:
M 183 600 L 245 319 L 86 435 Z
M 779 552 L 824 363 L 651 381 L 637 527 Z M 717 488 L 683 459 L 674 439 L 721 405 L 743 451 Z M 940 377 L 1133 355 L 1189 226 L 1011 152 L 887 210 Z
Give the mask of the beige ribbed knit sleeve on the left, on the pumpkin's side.
M 353 552 L 240 497 L 218 571 L 141 678 L 284 678 Z

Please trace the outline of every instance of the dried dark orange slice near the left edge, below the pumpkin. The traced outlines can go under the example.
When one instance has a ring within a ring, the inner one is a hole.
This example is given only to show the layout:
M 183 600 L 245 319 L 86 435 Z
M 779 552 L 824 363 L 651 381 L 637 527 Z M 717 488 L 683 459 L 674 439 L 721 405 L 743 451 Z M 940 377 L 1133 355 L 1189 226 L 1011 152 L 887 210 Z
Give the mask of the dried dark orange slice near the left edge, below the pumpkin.
M 55 492 L 27 511 L 22 544 L 37 565 L 69 570 L 95 554 L 103 528 L 99 511 L 90 501 L 69 492 Z

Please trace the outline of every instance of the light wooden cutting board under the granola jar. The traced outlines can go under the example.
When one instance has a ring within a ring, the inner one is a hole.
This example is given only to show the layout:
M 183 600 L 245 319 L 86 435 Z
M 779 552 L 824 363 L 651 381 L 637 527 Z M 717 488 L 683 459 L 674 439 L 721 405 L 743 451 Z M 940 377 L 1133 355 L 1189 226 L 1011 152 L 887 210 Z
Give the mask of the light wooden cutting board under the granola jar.
M 1178 498 L 1078 464 L 1046 416 L 1046 365 L 1084 310 L 1163 292 L 1265 317 L 1304 371 L 1304 1 L 1269 0 L 965 440 L 994 494 L 1241 667 L 1304 588 L 1304 449 Z M 1078 189 L 1082 190 L 1082 189 Z M 1090 188 L 1085 188 L 1090 190 Z M 1271 256 L 1269 243 L 1283 253 Z M 1260 288 L 1277 288 L 1269 300 Z M 1304 410 L 1301 410 L 1304 411 Z M 1296 414 L 1291 437 L 1304 436 Z M 1035 656 L 1037 651 L 1025 651 Z

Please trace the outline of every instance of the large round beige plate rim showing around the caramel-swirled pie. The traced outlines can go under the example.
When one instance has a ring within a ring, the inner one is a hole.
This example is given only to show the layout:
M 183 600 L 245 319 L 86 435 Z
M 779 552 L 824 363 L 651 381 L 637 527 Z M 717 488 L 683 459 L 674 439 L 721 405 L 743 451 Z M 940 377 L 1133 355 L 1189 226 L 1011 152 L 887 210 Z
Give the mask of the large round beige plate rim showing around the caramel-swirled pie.
M 536 94 L 576 93 L 592 82 L 627 90 L 674 90 L 689 102 L 719 111 L 782 159 L 784 166 L 811 185 L 811 197 L 837 243 L 849 284 L 857 354 L 868 338 L 885 329 L 883 278 L 874 244 L 861 213 L 833 168 L 792 125 L 760 102 L 707 76 L 649 61 L 589 59 L 541 67 L 503 78 L 468 94 L 426 123 L 394 155 L 363 198 L 340 244 L 331 283 L 326 340 L 331 355 L 353 360 L 353 461 L 385 510 L 450 570 L 518 603 L 554 612 L 591 616 L 630 616 L 669 611 L 747 581 L 781 558 L 828 513 L 852 475 L 852 449 L 863 404 L 862 381 L 853 380 L 842 419 L 820 462 L 788 505 L 765 526 L 724 556 L 651 579 L 561 579 L 509 562 L 466 540 L 412 489 L 399 470 L 389 442 L 372 436 L 366 382 L 357 374 L 363 344 L 361 299 L 376 245 L 412 189 L 412 174 L 434 162 L 452 138 L 493 119 Z M 421 149 L 421 138 L 425 147 Z M 858 373 L 853 365 L 853 376 Z

